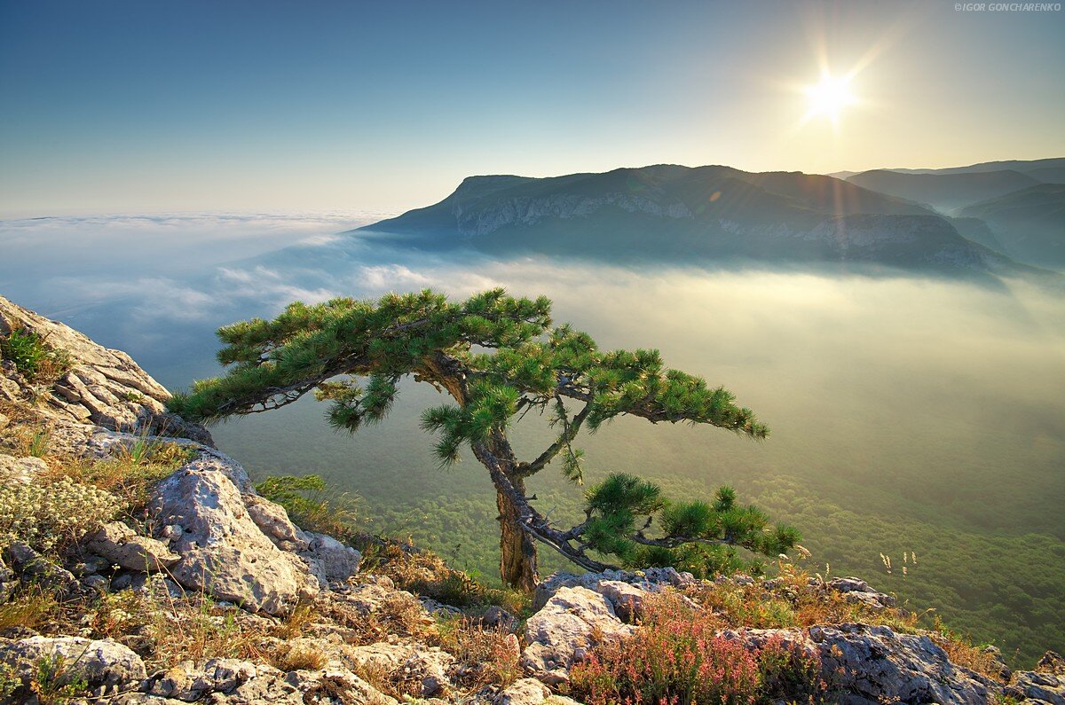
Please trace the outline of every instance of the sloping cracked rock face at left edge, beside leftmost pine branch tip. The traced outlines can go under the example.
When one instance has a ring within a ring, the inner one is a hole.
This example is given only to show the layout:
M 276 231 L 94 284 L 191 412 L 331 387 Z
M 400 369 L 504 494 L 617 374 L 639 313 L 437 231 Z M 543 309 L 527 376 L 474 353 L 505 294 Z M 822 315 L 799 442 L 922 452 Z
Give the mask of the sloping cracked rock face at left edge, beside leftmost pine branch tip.
M 69 371 L 42 390 L 14 366 L 0 371 L 0 399 L 24 405 L 53 420 L 95 424 L 112 430 L 189 438 L 213 446 L 211 435 L 165 408 L 170 393 L 121 350 L 104 348 L 85 334 L 12 304 L 0 296 L 0 335 L 33 332 L 64 351 Z

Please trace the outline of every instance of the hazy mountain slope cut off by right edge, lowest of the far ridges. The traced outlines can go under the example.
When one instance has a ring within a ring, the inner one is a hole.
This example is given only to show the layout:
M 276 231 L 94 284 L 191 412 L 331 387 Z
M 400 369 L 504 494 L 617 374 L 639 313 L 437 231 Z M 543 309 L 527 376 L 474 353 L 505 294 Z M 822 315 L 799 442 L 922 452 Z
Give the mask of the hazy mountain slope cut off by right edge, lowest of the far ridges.
M 1065 184 L 1044 183 L 976 203 L 960 215 L 988 224 L 1000 251 L 1038 266 L 1065 267 Z

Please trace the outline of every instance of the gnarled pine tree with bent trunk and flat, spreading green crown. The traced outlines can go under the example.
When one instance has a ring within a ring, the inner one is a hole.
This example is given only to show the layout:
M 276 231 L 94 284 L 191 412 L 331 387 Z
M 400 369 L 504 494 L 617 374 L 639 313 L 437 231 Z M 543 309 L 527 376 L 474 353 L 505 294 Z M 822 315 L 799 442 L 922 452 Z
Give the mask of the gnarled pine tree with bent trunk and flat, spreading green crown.
M 330 404 L 329 423 L 354 432 L 386 417 L 402 378 L 449 394 L 455 404 L 426 409 L 422 427 L 436 433 L 442 464 L 457 462 L 468 447 L 487 469 L 499 510 L 501 576 L 513 587 L 535 587 L 537 542 L 593 571 L 611 568 L 604 561 L 613 557 L 625 567 L 706 573 L 735 567 L 735 546 L 776 555 L 799 540 L 794 529 L 771 527 L 757 509 L 737 505 L 731 488 L 711 503 L 671 502 L 654 483 L 624 474 L 585 492 L 580 524 L 551 524 L 532 506 L 525 480 L 557 462 L 568 479 L 583 483 L 583 456 L 573 445 L 581 429 L 594 431 L 621 415 L 709 424 L 754 439 L 768 429 L 726 390 L 665 368 L 657 350 L 600 350 L 569 325 L 552 328 L 545 297 L 514 298 L 496 289 L 453 302 L 426 290 L 377 301 L 296 301 L 273 321 L 235 323 L 218 337 L 227 374 L 176 395 L 177 413 L 212 423 L 313 392 Z M 547 415 L 557 436 L 536 458 L 520 460 L 507 432 L 529 411 Z

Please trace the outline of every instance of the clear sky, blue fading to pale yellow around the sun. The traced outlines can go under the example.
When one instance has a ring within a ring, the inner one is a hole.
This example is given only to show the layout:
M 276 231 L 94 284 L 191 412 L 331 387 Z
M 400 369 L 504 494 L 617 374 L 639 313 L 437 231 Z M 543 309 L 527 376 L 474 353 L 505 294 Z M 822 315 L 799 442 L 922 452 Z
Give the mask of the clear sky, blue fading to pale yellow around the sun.
M 0 218 L 404 210 L 472 174 L 1065 155 L 1065 12 L 0 0 Z M 821 66 L 839 122 L 802 124 Z

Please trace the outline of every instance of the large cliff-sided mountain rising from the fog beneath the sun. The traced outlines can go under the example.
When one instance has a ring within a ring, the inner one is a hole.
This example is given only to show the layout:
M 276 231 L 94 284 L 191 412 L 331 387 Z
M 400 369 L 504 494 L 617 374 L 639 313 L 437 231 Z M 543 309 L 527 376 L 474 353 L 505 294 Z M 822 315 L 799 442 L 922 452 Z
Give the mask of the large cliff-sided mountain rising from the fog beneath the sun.
M 1031 268 L 917 203 L 826 176 L 659 165 L 534 179 L 470 177 L 444 200 L 360 230 L 610 261 L 846 262 L 952 274 Z

